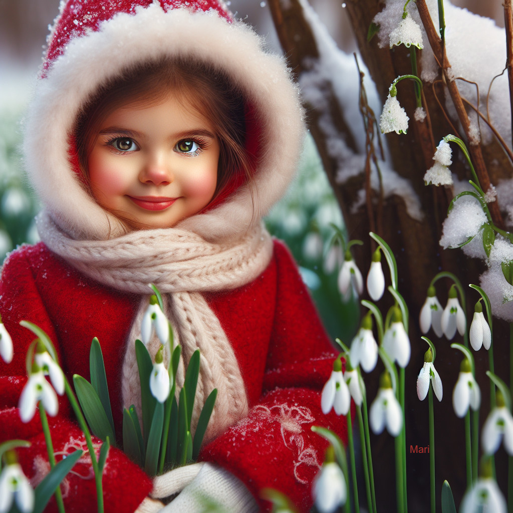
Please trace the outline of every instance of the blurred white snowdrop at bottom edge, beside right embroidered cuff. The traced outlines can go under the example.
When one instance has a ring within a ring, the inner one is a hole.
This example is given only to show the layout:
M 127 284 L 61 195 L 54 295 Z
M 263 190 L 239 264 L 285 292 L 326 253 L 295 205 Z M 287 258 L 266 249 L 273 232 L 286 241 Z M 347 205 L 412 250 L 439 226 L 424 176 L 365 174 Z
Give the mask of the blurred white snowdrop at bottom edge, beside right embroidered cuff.
M 312 496 L 320 513 L 332 513 L 346 503 L 346 479 L 334 461 L 333 448 L 328 447 L 326 461 L 313 482 Z

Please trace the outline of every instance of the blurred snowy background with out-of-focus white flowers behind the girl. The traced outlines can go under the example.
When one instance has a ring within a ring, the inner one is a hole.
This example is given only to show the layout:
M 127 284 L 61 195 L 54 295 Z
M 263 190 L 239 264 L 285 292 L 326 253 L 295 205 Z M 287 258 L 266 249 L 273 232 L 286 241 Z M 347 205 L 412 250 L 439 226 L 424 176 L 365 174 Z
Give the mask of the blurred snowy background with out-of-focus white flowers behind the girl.
M 236 17 L 266 36 L 271 49 L 280 52 L 265 1 L 226 3 Z M 356 50 L 344 4 L 340 0 L 310 3 L 339 47 L 348 52 Z M 497 25 L 504 26 L 501 0 L 452 3 L 494 18 Z M 25 180 L 19 144 L 48 27 L 57 9 L 57 0 L 0 0 L 0 262 L 17 245 L 37 241 L 33 218 L 38 205 Z M 343 227 L 343 222 L 310 139 L 305 143 L 297 180 L 266 222 L 292 250 L 331 337 L 349 342 L 358 327 L 358 308 L 353 300 L 342 303 L 337 289 L 338 266 L 324 263 L 333 234 L 330 224 Z

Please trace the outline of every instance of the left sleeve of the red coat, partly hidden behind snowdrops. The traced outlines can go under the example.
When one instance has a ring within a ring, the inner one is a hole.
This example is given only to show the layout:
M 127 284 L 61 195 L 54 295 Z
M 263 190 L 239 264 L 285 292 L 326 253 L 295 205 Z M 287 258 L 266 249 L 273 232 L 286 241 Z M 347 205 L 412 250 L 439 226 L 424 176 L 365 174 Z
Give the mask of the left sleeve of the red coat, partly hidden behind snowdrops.
M 17 452 L 24 472 L 36 486 L 50 467 L 37 410 L 34 418 L 26 424 L 19 418 L 19 395 L 27 381 L 25 355 L 35 338 L 31 331 L 19 326 L 19 321 L 25 319 L 37 324 L 49 335 L 57 352 L 60 346 L 55 335 L 55 320 L 49 318 L 37 289 L 29 251 L 30 247 L 24 246 L 9 256 L 0 281 L 0 313 L 14 345 L 13 361 L 7 365 L 0 359 L 0 443 L 10 439 L 31 443 L 30 447 Z M 56 417 L 49 417 L 49 423 L 57 461 L 76 449 L 84 450 L 84 455 L 61 485 L 66 511 L 95 511 L 96 491 L 91 459 L 83 433 L 72 418 L 71 408 L 65 399 L 60 400 L 59 412 Z M 96 456 L 101 443 L 93 437 Z M 120 449 L 109 450 L 103 475 L 105 513 L 132 513 L 151 487 L 148 476 Z M 45 511 L 56 510 L 52 498 Z

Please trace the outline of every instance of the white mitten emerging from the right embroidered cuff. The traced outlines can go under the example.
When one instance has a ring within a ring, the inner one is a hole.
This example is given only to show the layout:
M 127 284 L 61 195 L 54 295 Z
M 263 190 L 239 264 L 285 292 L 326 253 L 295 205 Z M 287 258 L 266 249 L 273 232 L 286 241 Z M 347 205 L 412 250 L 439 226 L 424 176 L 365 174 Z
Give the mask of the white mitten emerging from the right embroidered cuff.
M 257 502 L 239 479 L 212 463 L 202 465 L 198 474 L 161 513 L 203 513 L 214 504 L 223 513 L 258 513 Z

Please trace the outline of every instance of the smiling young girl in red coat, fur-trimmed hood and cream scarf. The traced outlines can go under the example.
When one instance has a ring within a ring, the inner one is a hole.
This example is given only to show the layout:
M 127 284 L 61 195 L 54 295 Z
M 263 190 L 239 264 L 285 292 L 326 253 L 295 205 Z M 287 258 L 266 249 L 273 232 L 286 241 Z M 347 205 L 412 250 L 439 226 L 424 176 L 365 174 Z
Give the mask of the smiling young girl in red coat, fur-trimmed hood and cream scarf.
M 0 442 L 31 442 L 19 458 L 32 484 L 49 464 L 38 416 L 24 424 L 16 407 L 33 340 L 19 321 L 49 334 L 68 379 L 89 378 L 98 337 L 121 433 L 123 407 L 141 402 L 134 341 L 154 283 L 182 346 L 177 384 L 199 348 L 195 404 L 214 387 L 218 399 L 200 463 L 151 480 L 112 448 L 105 511 L 202 511 L 199 496 L 265 510 L 265 487 L 311 506 L 326 444 L 310 427 L 341 434 L 341 422 L 320 410 L 333 351 L 261 224 L 291 180 L 303 123 L 283 61 L 260 43 L 216 0 L 61 3 L 24 144 L 42 242 L 11 253 L 0 284 L 15 346 L 0 363 Z M 152 356 L 158 346 L 153 336 Z M 50 422 L 58 455 L 85 448 L 65 402 Z M 67 511 L 95 510 L 88 456 L 62 491 Z

